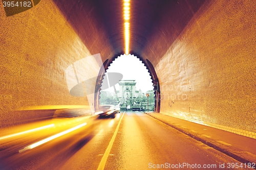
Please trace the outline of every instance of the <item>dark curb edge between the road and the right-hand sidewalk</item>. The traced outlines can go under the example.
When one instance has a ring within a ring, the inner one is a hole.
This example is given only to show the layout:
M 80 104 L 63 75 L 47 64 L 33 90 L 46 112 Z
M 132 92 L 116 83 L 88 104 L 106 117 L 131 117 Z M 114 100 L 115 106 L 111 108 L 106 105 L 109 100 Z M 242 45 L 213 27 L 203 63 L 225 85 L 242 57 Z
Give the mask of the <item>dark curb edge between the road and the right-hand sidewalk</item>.
M 146 112 L 144 112 L 144 113 L 153 117 L 153 118 L 155 118 L 155 119 L 157 119 L 157 120 L 159 120 L 160 122 L 164 123 L 165 125 L 168 125 L 168 126 L 174 128 L 174 129 L 176 129 L 176 130 L 178 130 L 178 131 L 180 131 L 180 132 L 198 140 L 198 141 L 201 141 L 202 143 L 208 145 L 209 147 L 214 148 L 215 150 L 220 151 L 220 152 L 226 154 L 227 156 L 229 156 L 233 159 L 236 159 L 236 160 L 238 160 L 242 163 L 246 163 L 246 164 L 256 163 L 256 160 L 253 160 L 253 158 L 248 159 L 248 157 L 250 157 L 250 156 L 246 152 L 241 152 L 241 151 L 238 151 L 238 150 L 234 150 L 234 149 L 232 149 L 232 148 L 230 148 L 230 147 L 228 147 L 228 146 L 226 146 L 222 143 L 219 143 L 219 142 L 214 141 L 212 139 L 209 139 L 207 137 L 203 137 L 202 135 L 195 135 L 193 133 L 190 133 L 190 132 L 188 132 L 188 130 L 184 130 L 179 126 L 175 126 L 174 124 L 168 123 L 165 120 L 163 120 L 162 118 L 154 116 L 151 113 L 146 113 Z M 254 169 L 256 169 L 256 167 Z

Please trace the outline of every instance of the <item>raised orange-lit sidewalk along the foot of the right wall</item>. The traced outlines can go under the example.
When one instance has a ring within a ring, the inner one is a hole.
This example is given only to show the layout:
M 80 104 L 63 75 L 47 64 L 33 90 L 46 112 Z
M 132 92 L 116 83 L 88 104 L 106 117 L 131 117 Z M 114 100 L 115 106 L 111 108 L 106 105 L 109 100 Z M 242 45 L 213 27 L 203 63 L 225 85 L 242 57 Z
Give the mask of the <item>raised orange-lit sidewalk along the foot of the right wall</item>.
M 146 114 L 242 163 L 256 163 L 256 139 L 161 113 Z M 256 169 L 256 165 L 254 169 Z

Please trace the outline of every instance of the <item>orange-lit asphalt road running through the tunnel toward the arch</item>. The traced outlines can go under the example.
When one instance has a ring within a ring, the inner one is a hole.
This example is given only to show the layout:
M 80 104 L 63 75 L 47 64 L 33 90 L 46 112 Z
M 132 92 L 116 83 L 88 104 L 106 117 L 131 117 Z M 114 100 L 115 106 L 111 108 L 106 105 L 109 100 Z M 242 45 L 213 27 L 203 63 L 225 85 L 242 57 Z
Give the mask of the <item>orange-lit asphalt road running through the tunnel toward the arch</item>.
M 244 169 L 232 168 L 241 163 L 142 112 L 86 121 L 36 148 L 18 152 L 35 141 L 14 147 L 0 169 Z

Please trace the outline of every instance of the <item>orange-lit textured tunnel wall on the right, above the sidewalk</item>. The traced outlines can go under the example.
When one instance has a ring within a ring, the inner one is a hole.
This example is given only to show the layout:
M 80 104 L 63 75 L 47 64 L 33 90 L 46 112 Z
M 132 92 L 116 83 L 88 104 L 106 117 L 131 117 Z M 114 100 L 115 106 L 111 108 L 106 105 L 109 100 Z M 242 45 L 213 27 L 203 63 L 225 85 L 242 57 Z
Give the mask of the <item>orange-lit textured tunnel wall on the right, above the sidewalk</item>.
M 255 9 L 254 1 L 202 5 L 156 56 L 161 113 L 255 138 Z

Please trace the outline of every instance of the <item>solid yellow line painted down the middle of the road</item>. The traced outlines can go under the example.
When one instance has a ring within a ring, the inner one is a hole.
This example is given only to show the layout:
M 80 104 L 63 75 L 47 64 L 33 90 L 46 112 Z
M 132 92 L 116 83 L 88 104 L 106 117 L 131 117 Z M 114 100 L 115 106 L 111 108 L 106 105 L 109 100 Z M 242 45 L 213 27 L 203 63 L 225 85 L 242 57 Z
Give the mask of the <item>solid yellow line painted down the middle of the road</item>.
M 123 112 L 123 115 L 124 115 L 124 113 L 125 113 L 125 112 Z M 119 126 L 120 126 L 120 124 L 121 124 L 121 120 L 122 120 L 122 118 L 123 118 L 123 115 L 122 115 L 122 117 L 121 117 L 120 120 L 119 120 L 119 123 L 118 123 L 118 125 L 117 125 L 117 127 L 116 127 L 116 130 L 115 130 L 115 132 L 114 132 L 114 135 L 112 136 L 112 139 L 110 140 L 110 143 L 109 143 L 109 145 L 108 145 L 108 148 L 106 148 L 106 151 L 105 151 L 103 157 L 101 158 L 101 161 L 100 161 L 100 163 L 99 163 L 99 166 L 98 166 L 97 170 L 103 170 L 104 167 L 105 167 L 106 160 L 108 159 L 108 157 L 109 157 L 109 155 L 110 155 L 110 151 L 111 151 L 112 146 L 113 146 L 113 143 L 114 143 L 114 141 L 115 141 L 115 138 L 116 138 L 116 135 L 117 135 Z

